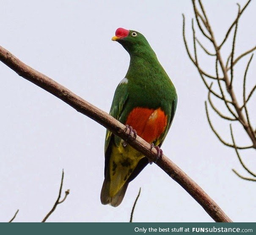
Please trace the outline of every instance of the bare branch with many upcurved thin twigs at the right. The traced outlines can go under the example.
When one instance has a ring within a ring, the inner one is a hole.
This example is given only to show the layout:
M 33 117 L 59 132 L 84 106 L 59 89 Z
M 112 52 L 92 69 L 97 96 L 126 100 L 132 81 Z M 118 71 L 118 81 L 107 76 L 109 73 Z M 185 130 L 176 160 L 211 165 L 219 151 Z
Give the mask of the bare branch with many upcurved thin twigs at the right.
M 192 56 L 192 53 L 190 52 L 187 39 L 186 39 L 186 34 L 185 34 L 185 16 L 183 14 L 183 40 L 184 40 L 184 45 L 185 49 L 187 51 L 188 57 L 190 60 L 193 62 L 195 67 L 198 70 L 198 73 L 204 82 L 206 88 L 208 89 L 208 97 L 207 100 L 208 102 L 205 102 L 205 110 L 206 110 L 206 116 L 207 120 L 209 123 L 209 126 L 211 127 L 212 131 L 215 133 L 216 137 L 220 140 L 221 143 L 224 145 L 231 147 L 235 150 L 237 157 L 239 159 L 239 162 L 241 163 L 242 167 L 250 173 L 251 176 L 255 177 L 256 181 L 256 174 L 252 173 L 251 171 L 248 171 L 248 168 L 245 167 L 243 164 L 241 157 L 239 155 L 239 149 L 256 149 L 256 129 L 253 129 L 253 124 L 249 115 L 249 111 L 247 108 L 247 104 L 250 100 L 250 98 L 253 95 L 253 92 L 256 90 L 256 85 L 253 86 L 251 89 L 250 93 L 248 96 L 246 96 L 246 78 L 248 74 L 248 70 L 250 67 L 250 63 L 253 59 L 253 51 L 256 50 L 256 46 L 252 47 L 248 51 L 243 52 L 240 54 L 238 57 L 235 58 L 235 48 L 236 48 L 236 43 L 237 43 L 237 30 L 238 30 L 238 23 L 239 20 L 245 11 L 245 9 L 248 7 L 250 4 L 251 0 L 248 0 L 247 3 L 241 8 L 239 4 L 238 5 L 238 11 L 237 11 L 237 16 L 234 19 L 234 21 L 231 23 L 230 27 L 228 28 L 226 35 L 224 36 L 223 40 L 220 43 L 217 43 L 217 40 L 214 35 L 214 31 L 212 30 L 212 26 L 209 22 L 208 16 L 206 14 L 206 11 L 204 9 L 204 5 L 202 4 L 201 0 L 192 0 L 193 4 L 193 11 L 195 15 L 195 20 L 197 27 L 199 31 L 201 32 L 201 35 L 206 39 L 206 41 L 209 41 L 212 44 L 212 47 L 214 48 L 214 52 L 210 52 L 209 49 L 207 49 L 197 38 L 196 33 L 195 33 L 195 27 L 194 27 L 194 21 L 192 19 L 192 33 L 193 33 L 193 52 L 194 56 Z M 233 32 L 233 37 L 232 37 L 232 43 L 231 43 L 231 52 L 226 59 L 226 63 L 224 63 L 224 57 L 221 53 L 221 49 L 223 48 L 224 45 L 226 45 L 226 42 L 228 38 L 231 36 L 231 33 Z M 202 66 L 199 63 L 198 60 L 198 49 L 197 49 L 197 44 L 201 47 L 201 49 L 204 51 L 204 53 L 211 57 L 215 58 L 215 74 L 209 74 L 204 71 Z M 237 99 L 237 94 L 234 91 L 233 87 L 233 81 L 234 81 L 234 69 L 235 66 L 237 65 L 237 62 L 239 62 L 241 59 L 243 59 L 245 56 L 251 54 L 250 59 L 247 63 L 247 66 L 245 68 L 245 73 L 244 73 L 244 79 L 243 79 L 243 98 L 242 98 L 242 105 L 239 105 L 238 99 Z M 211 79 L 211 83 L 209 84 L 208 80 Z M 213 89 L 213 85 L 216 84 L 218 87 L 219 91 L 216 91 Z M 224 115 L 214 104 L 211 96 L 214 96 L 216 100 L 220 100 L 223 102 L 223 104 L 226 107 L 227 112 L 230 114 Z M 223 138 L 220 136 L 220 134 L 217 132 L 215 127 L 213 126 L 210 116 L 209 116 L 209 110 L 207 103 L 211 106 L 213 111 L 221 118 L 226 121 L 230 122 L 237 122 L 239 123 L 243 129 L 245 130 L 245 133 L 248 136 L 250 144 L 248 146 L 237 146 L 234 140 L 234 135 L 232 132 L 231 128 L 231 138 L 232 138 L 232 143 L 228 143 L 226 140 L 223 140 Z M 255 120 L 254 120 L 255 122 Z M 236 170 L 233 169 L 233 172 L 237 174 L 240 178 L 250 180 L 252 181 L 252 178 L 244 177 L 241 176 L 240 174 L 237 173 Z M 254 179 L 254 178 L 253 178 Z

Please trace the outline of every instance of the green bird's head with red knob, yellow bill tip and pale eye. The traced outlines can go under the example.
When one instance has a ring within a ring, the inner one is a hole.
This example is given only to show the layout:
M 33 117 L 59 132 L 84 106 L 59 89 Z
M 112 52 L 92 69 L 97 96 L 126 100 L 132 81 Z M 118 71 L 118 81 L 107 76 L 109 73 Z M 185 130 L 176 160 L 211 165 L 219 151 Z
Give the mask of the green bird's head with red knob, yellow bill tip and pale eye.
M 112 41 L 120 43 L 129 54 L 152 50 L 146 38 L 135 30 L 118 28 Z

